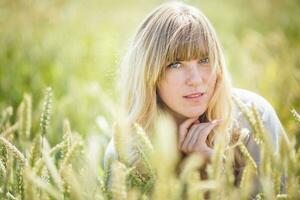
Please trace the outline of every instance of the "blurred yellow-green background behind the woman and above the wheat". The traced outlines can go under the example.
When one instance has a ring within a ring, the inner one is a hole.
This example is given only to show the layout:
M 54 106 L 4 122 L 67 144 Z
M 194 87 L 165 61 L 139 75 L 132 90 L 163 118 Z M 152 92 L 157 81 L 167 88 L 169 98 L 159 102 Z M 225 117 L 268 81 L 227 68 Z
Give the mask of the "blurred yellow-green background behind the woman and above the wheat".
M 0 110 L 33 98 L 34 130 L 47 86 L 54 91 L 50 141 L 63 119 L 82 135 L 113 121 L 116 70 L 142 19 L 165 1 L 0 0 Z M 198 0 L 224 47 L 236 87 L 264 96 L 289 134 L 299 125 L 300 1 Z M 102 125 L 101 125 L 102 124 Z

